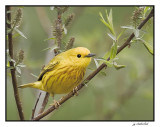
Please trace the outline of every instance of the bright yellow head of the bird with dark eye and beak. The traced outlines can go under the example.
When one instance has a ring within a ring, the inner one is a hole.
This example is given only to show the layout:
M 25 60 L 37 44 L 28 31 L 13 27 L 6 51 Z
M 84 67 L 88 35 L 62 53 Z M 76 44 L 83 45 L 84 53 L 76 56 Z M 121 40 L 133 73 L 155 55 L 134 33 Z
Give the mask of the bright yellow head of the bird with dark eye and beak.
M 77 47 L 64 52 L 67 61 L 71 64 L 86 68 L 91 62 L 91 57 L 95 54 L 90 53 L 87 48 Z

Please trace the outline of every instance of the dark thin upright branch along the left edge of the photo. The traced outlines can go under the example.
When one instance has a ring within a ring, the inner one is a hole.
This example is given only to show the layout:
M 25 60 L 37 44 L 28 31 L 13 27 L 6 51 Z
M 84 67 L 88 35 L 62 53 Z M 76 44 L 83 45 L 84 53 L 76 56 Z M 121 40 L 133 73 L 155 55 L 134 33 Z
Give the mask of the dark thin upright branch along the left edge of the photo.
M 7 27 L 8 27 L 8 29 L 12 29 L 12 27 L 11 27 L 11 13 L 10 13 L 11 7 L 7 6 L 6 9 L 7 9 L 7 12 L 8 12 L 7 13 L 7 20 L 9 21 L 9 23 L 7 23 Z M 13 59 L 12 32 L 8 33 L 8 47 L 9 47 L 9 55 L 10 55 L 11 59 Z M 10 63 L 11 67 L 14 67 L 13 61 L 10 61 L 9 63 Z M 16 100 L 16 105 L 17 105 L 19 117 L 20 117 L 20 120 L 24 120 L 24 114 L 23 114 L 23 110 L 22 110 L 21 100 L 20 100 L 19 92 L 18 92 L 18 88 L 17 88 L 15 68 L 11 69 L 11 76 L 12 76 L 14 97 L 15 97 L 15 100 Z

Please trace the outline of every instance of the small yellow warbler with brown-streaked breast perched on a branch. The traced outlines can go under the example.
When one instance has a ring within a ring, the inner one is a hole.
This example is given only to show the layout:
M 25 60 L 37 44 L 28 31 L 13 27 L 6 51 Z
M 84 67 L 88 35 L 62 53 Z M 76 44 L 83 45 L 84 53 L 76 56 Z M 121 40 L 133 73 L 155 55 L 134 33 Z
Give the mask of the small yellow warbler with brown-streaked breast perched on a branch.
M 37 88 L 50 93 L 51 96 L 69 93 L 82 81 L 92 56 L 95 54 L 84 47 L 60 53 L 44 67 L 38 81 L 20 85 L 19 88 Z

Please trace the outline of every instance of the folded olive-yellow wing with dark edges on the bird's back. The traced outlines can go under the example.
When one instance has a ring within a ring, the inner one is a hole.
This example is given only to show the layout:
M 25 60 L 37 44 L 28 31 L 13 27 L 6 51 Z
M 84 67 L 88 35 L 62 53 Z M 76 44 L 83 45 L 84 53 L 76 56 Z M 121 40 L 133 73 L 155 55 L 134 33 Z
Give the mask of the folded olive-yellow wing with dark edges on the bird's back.
M 43 75 L 46 72 L 51 71 L 57 64 L 59 64 L 59 61 L 51 61 L 46 67 L 44 67 L 44 69 L 41 71 L 41 73 L 38 77 L 38 81 L 42 80 Z

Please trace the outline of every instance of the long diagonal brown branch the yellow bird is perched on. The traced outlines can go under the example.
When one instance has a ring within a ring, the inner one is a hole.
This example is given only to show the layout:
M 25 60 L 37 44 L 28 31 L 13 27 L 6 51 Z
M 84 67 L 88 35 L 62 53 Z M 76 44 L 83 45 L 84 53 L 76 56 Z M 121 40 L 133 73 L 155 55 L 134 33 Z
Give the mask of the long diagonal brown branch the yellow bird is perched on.
M 150 14 L 146 17 L 145 20 L 143 20 L 141 22 L 141 24 L 138 26 L 138 29 L 141 29 L 144 24 L 153 16 L 153 9 L 151 10 Z M 134 33 L 132 33 L 130 35 L 130 37 L 127 39 L 127 41 L 118 49 L 117 54 L 119 52 L 121 52 L 127 45 L 130 44 L 130 41 L 133 39 L 134 37 Z M 109 58 L 107 59 L 109 60 Z M 93 71 L 81 84 L 79 84 L 76 88 L 77 91 L 79 91 L 81 88 L 83 88 L 83 86 L 85 86 L 86 83 L 88 83 L 97 73 L 99 73 L 104 67 L 107 67 L 107 65 L 105 63 L 101 64 L 95 71 Z M 64 102 L 66 102 L 68 99 L 70 99 L 71 97 L 73 97 L 75 95 L 76 91 L 71 91 L 69 94 L 67 94 L 66 96 L 64 96 L 62 99 L 60 99 L 58 101 L 58 103 L 60 105 L 62 105 Z M 46 115 L 48 115 L 49 113 L 51 113 L 52 111 L 54 111 L 56 109 L 56 105 L 53 105 L 51 107 L 49 107 L 46 111 L 44 111 L 43 113 L 39 114 L 38 116 L 36 116 L 33 120 L 40 120 L 43 117 L 45 117 Z

